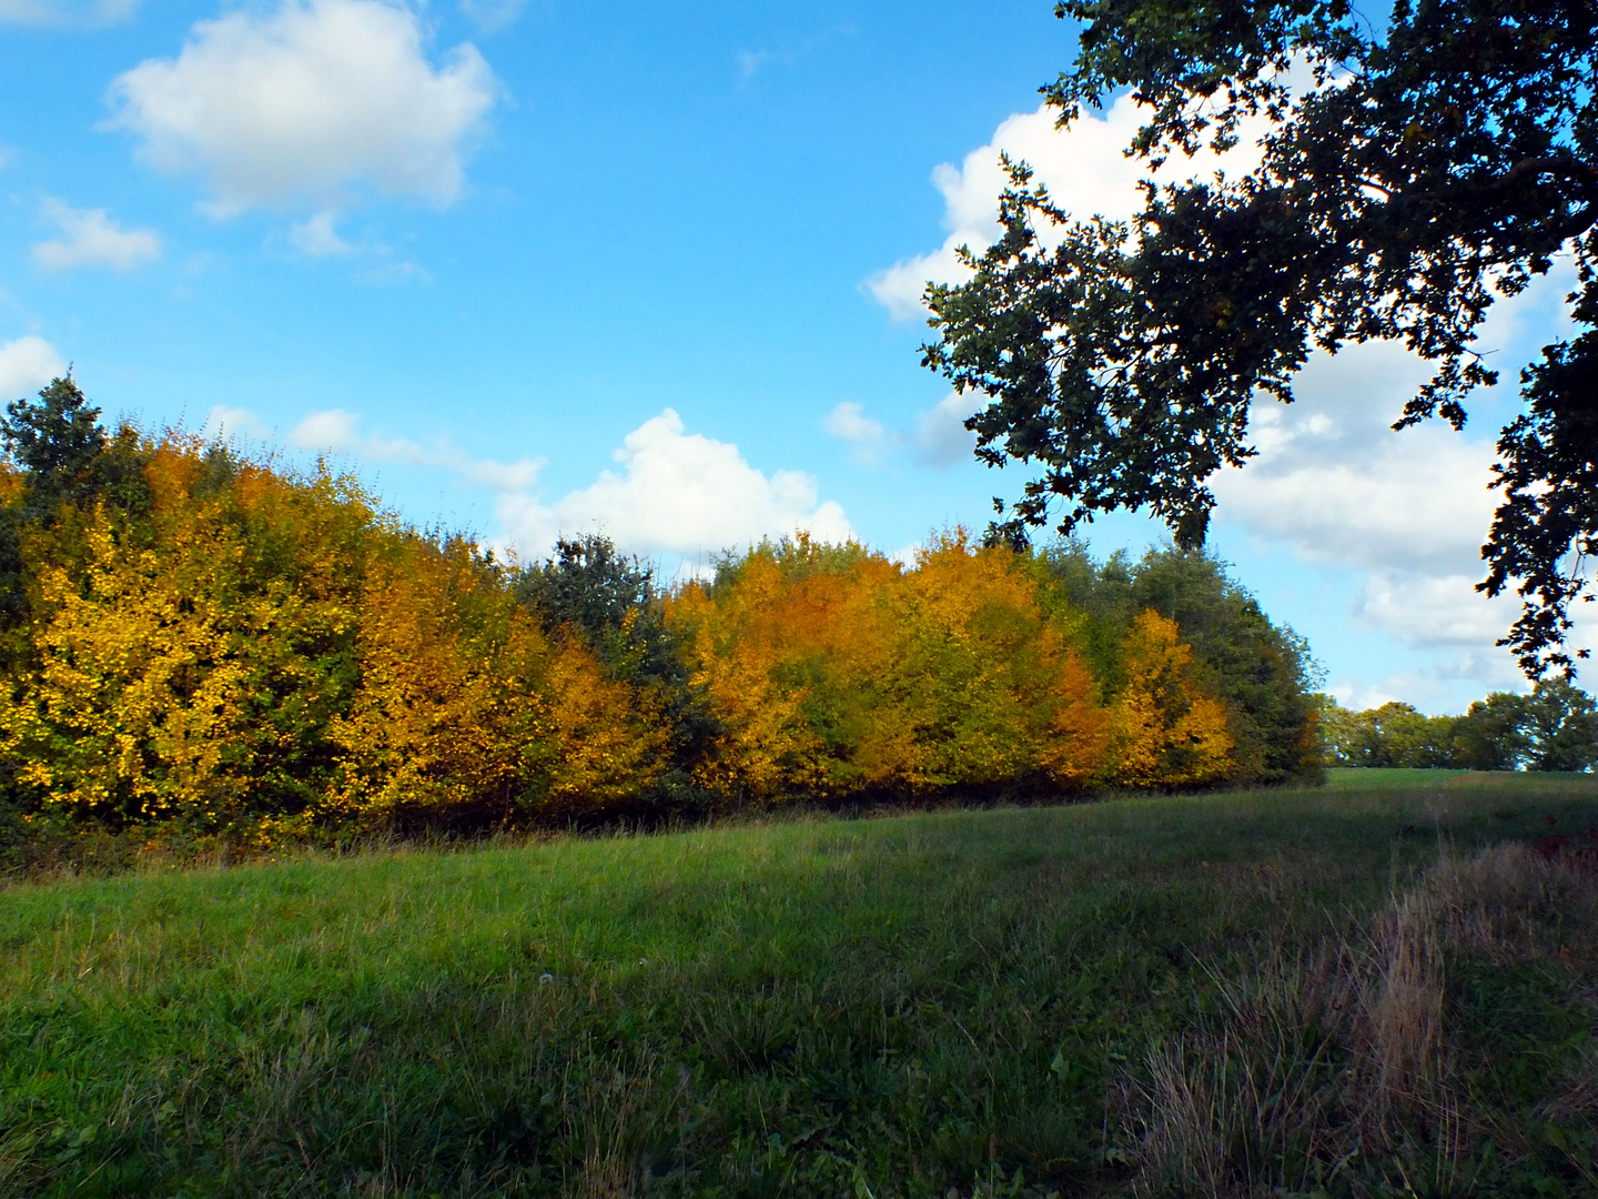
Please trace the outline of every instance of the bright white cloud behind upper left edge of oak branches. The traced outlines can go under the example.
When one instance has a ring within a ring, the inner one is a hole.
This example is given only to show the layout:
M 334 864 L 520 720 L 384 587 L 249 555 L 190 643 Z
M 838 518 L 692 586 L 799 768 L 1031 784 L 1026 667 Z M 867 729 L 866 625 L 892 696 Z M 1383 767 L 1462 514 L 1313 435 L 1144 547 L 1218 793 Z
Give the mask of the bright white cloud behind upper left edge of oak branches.
M 1141 211 L 1138 182 L 1147 177 L 1147 168 L 1123 150 L 1146 120 L 1146 110 L 1127 94 L 1101 115 L 1083 110 L 1067 129 L 1055 125 L 1058 115 L 1048 106 L 1015 114 L 999 125 L 991 142 L 967 153 L 960 166 L 941 163 L 933 169 L 932 182 L 943 193 L 943 227 L 949 235 L 936 249 L 901 259 L 865 285 L 893 320 L 924 312 L 920 297 L 928 280 L 954 283 L 965 277 L 954 254 L 959 246 L 981 253 L 997 240 L 999 193 L 1010 182 L 999 163 L 1000 153 L 1026 161 L 1036 173 L 1036 182 L 1045 184 L 1055 203 L 1077 219 L 1104 216 L 1127 221 Z M 1222 168 L 1240 174 L 1258 161 L 1259 147 L 1245 133 L 1238 145 L 1224 155 L 1173 157 L 1157 177 L 1173 182 Z M 1187 169 L 1179 171 L 1184 163 Z

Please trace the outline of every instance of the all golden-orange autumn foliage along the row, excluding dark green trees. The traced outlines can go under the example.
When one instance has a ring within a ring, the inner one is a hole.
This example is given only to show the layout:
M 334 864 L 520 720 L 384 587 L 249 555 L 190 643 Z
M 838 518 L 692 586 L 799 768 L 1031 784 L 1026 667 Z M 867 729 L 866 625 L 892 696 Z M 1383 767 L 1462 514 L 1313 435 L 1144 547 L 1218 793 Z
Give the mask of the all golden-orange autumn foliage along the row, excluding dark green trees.
M 259 841 L 617 809 L 668 769 L 746 806 L 1230 767 L 1171 622 L 1133 622 L 1106 695 L 1039 561 L 962 532 L 914 568 L 801 537 L 679 588 L 679 694 L 547 631 L 473 544 L 400 526 L 348 480 L 177 436 L 137 452 L 147 507 L 24 526 L 0 766 L 34 809 Z M 679 759 L 690 695 L 714 732 Z

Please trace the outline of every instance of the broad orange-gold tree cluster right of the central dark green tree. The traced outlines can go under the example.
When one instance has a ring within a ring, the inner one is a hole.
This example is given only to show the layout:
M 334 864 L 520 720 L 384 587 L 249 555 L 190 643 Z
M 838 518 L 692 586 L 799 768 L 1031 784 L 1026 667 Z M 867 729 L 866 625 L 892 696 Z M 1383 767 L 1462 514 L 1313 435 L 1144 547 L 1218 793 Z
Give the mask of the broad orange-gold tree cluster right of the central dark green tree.
M 908 571 L 860 545 L 767 544 L 668 619 L 722 719 L 705 780 L 733 798 L 1079 787 L 1104 758 L 1069 619 L 1045 615 L 1026 558 L 964 534 Z

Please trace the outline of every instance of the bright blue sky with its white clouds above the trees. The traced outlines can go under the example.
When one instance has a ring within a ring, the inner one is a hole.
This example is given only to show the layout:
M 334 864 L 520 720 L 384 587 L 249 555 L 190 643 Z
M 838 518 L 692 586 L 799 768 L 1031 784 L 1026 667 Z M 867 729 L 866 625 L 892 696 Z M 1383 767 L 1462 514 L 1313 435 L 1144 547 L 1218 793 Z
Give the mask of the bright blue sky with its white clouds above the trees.
M 1051 10 L 0 0 L 0 387 L 72 361 L 109 414 L 328 454 L 529 556 L 980 528 L 1021 476 L 919 368 L 920 285 L 988 235 L 999 149 L 1079 211 L 1133 195 L 1128 104 L 1039 112 L 1074 46 Z M 1505 377 L 1556 283 L 1485 336 Z M 1387 433 L 1419 377 L 1312 363 L 1214 545 L 1346 702 L 1459 710 L 1515 684 L 1470 592 L 1512 396 Z

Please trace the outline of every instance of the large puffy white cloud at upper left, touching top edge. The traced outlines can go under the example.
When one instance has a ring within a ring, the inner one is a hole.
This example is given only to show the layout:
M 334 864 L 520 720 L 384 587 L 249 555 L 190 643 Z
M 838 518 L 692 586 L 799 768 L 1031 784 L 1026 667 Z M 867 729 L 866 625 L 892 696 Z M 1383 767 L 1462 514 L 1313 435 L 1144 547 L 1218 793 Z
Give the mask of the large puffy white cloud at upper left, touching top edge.
M 230 13 L 198 22 L 176 59 L 120 75 L 110 126 L 157 169 L 205 176 L 217 216 L 332 206 L 361 185 L 447 205 L 499 83 L 471 45 L 435 69 L 422 43 L 417 14 L 380 0 Z

